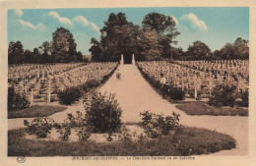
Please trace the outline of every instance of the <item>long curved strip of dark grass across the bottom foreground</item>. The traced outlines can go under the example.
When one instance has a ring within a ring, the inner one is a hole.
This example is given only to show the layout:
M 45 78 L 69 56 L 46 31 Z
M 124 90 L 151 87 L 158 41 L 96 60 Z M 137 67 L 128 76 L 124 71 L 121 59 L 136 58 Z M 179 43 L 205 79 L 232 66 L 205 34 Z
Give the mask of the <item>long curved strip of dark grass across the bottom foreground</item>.
M 31 140 L 24 136 L 25 129 L 8 132 L 8 156 L 187 156 L 235 147 L 235 140 L 227 135 L 187 127 L 167 137 L 106 143 Z

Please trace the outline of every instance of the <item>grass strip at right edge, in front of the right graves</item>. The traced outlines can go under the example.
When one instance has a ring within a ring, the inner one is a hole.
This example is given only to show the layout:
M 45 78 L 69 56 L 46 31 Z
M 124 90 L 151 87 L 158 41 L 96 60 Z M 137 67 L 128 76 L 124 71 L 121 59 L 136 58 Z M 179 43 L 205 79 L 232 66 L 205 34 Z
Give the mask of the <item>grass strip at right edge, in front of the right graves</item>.
M 248 110 L 243 108 L 223 107 L 215 108 L 207 102 L 190 102 L 176 107 L 188 115 L 213 115 L 213 116 L 248 116 Z

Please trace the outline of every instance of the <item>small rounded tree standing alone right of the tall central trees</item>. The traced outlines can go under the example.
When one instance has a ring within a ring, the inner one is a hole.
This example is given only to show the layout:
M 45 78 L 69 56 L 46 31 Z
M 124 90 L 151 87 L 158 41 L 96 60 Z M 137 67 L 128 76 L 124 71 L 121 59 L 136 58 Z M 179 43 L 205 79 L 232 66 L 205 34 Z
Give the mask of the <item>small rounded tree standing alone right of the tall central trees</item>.
M 211 55 L 211 49 L 204 42 L 194 41 L 189 45 L 187 54 L 194 60 L 204 59 Z

